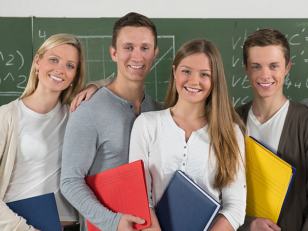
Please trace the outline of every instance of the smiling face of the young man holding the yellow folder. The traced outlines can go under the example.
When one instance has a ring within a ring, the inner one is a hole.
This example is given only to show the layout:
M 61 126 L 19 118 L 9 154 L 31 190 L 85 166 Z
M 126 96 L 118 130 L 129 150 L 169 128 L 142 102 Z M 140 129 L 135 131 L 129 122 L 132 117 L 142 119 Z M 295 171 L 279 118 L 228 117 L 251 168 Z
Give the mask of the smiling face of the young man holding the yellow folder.
M 250 48 L 244 69 L 255 99 L 282 97 L 284 77 L 290 68 L 291 61 L 286 65 L 280 45 Z

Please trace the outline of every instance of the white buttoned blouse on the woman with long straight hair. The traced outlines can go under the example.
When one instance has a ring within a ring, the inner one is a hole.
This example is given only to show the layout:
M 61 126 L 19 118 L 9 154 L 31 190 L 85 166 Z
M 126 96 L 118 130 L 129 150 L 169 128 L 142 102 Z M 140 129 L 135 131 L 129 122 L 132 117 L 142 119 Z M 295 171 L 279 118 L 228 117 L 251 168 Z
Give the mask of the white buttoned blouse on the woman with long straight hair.
M 245 161 L 244 138 L 235 127 L 238 144 Z M 145 167 L 150 206 L 155 207 L 176 170 L 185 174 L 222 204 L 223 214 L 234 230 L 244 223 L 246 176 L 243 163 L 238 178 L 230 187 L 214 188 L 216 158 L 209 155 L 207 126 L 193 131 L 186 143 L 185 131 L 171 117 L 170 109 L 141 113 L 134 122 L 129 162 L 142 159 Z M 213 148 L 211 148 L 213 150 Z

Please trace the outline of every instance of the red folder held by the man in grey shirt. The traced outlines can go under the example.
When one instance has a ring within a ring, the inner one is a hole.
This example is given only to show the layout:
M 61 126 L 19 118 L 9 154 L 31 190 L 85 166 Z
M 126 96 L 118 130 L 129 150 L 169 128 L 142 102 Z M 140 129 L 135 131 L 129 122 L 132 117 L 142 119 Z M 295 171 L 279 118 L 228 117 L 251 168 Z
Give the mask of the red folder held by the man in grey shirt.
M 114 213 L 131 214 L 143 218 L 143 225 L 133 224 L 137 230 L 151 225 L 150 210 L 143 161 L 138 160 L 85 178 L 97 199 Z M 87 221 L 88 231 L 100 229 Z

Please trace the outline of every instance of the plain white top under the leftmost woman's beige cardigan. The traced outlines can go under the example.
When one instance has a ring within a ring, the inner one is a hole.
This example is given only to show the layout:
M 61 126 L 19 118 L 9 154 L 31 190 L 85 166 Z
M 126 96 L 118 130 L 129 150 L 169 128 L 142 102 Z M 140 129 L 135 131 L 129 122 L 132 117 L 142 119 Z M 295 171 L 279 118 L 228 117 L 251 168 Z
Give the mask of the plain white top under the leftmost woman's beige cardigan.
M 77 211 L 60 191 L 60 172 L 68 105 L 59 101 L 39 114 L 18 101 L 17 153 L 3 201 L 11 202 L 54 192 L 61 221 L 78 221 Z

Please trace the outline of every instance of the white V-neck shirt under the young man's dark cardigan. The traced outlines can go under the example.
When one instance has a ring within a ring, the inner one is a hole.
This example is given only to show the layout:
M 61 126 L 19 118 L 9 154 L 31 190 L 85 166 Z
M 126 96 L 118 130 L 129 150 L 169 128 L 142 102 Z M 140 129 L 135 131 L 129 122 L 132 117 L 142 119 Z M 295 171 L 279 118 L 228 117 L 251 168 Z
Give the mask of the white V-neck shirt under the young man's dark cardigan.
M 263 124 L 256 119 L 251 107 L 248 112 L 246 123 L 248 136 L 256 138 L 271 151 L 277 153 L 280 136 L 289 105 L 290 101 L 287 100 L 273 115 L 273 117 Z

